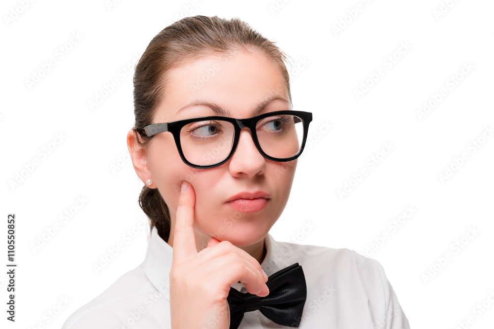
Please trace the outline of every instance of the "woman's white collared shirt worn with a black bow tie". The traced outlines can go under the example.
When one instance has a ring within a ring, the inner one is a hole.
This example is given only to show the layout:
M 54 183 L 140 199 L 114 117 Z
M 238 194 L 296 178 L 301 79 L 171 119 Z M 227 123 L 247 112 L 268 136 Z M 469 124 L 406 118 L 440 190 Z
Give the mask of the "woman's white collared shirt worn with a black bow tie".
M 382 266 L 348 249 L 278 242 L 268 233 L 261 267 L 268 276 L 291 264 L 307 283 L 300 329 L 409 329 Z M 62 329 L 170 328 L 169 273 L 173 249 L 151 232 L 142 264 L 72 314 Z M 244 284 L 233 285 L 247 292 Z M 214 327 L 212 327 L 214 328 Z M 259 310 L 246 312 L 239 329 L 289 328 Z

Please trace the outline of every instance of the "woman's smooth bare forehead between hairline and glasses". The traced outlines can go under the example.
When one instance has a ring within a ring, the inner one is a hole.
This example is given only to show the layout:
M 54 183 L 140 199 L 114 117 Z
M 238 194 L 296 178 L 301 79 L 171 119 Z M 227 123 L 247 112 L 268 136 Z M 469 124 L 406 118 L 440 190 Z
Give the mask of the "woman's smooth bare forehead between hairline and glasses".
M 218 115 L 219 111 L 243 118 L 253 116 L 256 110 L 291 108 L 279 65 L 263 54 L 236 51 L 211 55 L 169 71 L 167 78 L 153 122 Z

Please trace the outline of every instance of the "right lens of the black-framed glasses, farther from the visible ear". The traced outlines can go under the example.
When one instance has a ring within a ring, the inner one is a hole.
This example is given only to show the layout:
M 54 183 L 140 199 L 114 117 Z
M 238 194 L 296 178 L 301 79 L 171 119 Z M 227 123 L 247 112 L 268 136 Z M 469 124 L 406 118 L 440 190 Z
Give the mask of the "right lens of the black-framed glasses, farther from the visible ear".
M 274 158 L 289 158 L 298 153 L 304 137 L 304 125 L 295 115 L 273 115 L 256 125 L 257 140 L 262 150 Z

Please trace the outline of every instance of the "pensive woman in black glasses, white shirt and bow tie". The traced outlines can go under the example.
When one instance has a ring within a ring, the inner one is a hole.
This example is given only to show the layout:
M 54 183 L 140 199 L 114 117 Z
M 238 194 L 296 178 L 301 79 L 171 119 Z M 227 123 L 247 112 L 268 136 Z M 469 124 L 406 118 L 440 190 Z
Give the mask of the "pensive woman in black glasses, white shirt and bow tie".
M 409 328 L 375 260 L 269 234 L 312 120 L 285 60 L 239 19 L 187 17 L 151 41 L 127 135 L 148 252 L 64 328 Z

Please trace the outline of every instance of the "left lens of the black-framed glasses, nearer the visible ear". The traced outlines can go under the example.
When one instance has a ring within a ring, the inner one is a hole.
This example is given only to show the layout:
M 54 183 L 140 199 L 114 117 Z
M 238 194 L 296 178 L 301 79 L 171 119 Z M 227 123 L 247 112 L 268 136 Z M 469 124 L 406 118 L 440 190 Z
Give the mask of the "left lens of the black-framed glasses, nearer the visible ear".
M 221 120 L 193 122 L 182 127 L 180 145 L 192 164 L 207 166 L 223 161 L 232 149 L 235 128 Z

